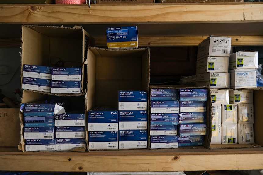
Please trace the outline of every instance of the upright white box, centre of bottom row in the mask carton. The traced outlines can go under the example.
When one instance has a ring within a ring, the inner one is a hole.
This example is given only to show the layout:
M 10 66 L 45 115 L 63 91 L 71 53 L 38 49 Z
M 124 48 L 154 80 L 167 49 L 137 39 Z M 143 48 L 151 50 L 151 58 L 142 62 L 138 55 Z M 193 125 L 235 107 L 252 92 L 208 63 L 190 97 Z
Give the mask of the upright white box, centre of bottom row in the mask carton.
M 222 124 L 222 144 L 235 144 L 237 143 L 237 124 Z

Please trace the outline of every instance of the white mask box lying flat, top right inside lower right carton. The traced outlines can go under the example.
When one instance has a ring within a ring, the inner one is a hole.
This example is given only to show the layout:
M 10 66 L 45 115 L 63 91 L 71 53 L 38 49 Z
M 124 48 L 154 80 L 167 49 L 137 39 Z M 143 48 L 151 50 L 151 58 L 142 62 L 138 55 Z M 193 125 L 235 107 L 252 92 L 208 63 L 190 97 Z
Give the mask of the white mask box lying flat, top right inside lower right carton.
M 229 90 L 229 103 L 253 103 L 253 90 Z

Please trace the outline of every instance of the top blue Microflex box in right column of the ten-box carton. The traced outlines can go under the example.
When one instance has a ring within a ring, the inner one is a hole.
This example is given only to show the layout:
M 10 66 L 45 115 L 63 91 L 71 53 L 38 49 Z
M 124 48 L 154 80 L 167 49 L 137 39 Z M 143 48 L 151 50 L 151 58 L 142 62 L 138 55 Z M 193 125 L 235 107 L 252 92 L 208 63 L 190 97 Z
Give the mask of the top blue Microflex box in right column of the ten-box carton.
M 180 101 L 207 101 L 207 89 L 179 89 Z

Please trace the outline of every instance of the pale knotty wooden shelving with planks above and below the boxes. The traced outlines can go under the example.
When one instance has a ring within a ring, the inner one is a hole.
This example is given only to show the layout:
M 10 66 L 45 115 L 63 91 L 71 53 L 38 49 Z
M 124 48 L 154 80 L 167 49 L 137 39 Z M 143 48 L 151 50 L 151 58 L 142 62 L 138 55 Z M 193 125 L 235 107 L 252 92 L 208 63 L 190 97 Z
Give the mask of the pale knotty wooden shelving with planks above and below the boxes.
M 197 46 L 210 34 L 263 45 L 263 3 L 136 5 L 0 4 L 0 47 L 21 44 L 21 25 L 83 28 L 106 46 L 106 27 L 136 25 L 139 46 Z M 20 152 L 0 148 L 7 171 L 199 171 L 263 169 L 263 148 Z

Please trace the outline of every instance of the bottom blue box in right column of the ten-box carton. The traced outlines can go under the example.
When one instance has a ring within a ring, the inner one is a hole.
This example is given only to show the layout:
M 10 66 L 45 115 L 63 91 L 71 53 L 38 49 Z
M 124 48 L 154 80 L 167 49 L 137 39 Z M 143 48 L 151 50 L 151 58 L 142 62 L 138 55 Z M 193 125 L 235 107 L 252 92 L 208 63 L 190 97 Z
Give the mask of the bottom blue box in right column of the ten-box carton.
M 178 136 L 178 143 L 178 147 L 204 145 L 204 136 Z

